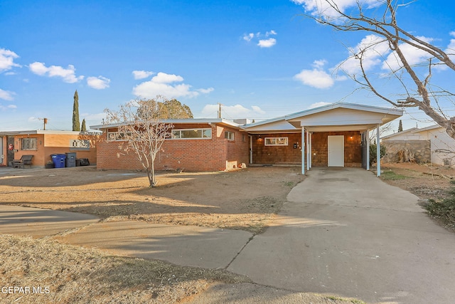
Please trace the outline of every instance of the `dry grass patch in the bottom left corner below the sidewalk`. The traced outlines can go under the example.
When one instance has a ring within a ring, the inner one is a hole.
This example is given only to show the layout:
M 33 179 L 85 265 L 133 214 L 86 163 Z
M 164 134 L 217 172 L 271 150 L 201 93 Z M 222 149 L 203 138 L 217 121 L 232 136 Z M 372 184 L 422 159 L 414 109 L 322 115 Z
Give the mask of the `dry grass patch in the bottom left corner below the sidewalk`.
M 31 288 L 26 294 L 0 293 L 1 303 L 176 303 L 215 281 L 250 281 L 223 270 L 108 256 L 5 234 L 0 235 L 0 261 L 0 287 Z M 42 293 L 33 293 L 33 287 Z

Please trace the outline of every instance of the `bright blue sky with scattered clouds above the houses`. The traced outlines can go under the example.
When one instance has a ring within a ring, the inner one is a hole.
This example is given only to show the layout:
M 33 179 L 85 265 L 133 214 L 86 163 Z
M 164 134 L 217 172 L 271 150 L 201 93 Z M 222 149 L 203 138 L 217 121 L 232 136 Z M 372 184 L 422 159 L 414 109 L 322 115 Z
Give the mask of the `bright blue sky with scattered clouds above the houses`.
M 42 129 L 43 117 L 47 129 L 70 130 L 75 90 L 87 126 L 99 125 L 105 108 L 156 95 L 206 118 L 217 116 L 217 103 L 225 118 L 255 120 L 339 101 L 390 107 L 333 75 L 346 47 L 367 34 L 299 16 L 311 2 L 0 0 L 0 130 Z M 417 0 L 398 17 L 446 49 L 455 46 L 454 9 Z M 449 73 L 434 78 L 454 89 Z M 444 107 L 455 116 L 454 105 Z M 405 128 L 429 124 L 419 110 L 408 113 Z

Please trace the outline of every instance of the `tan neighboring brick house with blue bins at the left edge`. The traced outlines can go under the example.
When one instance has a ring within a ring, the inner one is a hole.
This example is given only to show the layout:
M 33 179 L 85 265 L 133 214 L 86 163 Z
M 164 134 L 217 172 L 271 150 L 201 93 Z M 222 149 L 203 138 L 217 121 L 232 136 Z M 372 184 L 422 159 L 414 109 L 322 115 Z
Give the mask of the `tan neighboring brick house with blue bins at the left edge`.
M 81 132 L 29 130 L 0 132 L 0 166 L 10 166 L 22 155 L 33 155 L 32 167 L 45 167 L 51 154 L 75 152 L 77 158 L 97 163 L 95 138 Z

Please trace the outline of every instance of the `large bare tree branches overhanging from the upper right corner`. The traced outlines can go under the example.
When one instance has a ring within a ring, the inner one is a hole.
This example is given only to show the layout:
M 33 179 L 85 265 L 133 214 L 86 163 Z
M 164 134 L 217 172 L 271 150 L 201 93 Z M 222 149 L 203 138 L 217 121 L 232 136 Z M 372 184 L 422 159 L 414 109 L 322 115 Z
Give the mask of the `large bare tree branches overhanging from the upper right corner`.
M 450 118 L 440 106 L 442 99 L 451 100 L 454 93 L 432 83 L 435 69 L 455 71 L 455 50 L 443 50 L 430 43 L 430 39 L 414 36 L 398 25 L 397 9 L 411 5 L 414 1 L 404 4 L 399 0 L 356 0 L 352 1 L 353 6 L 350 7 L 347 1 L 293 1 L 304 4 L 304 16 L 331 26 L 336 31 L 369 33 L 368 43 L 365 42 L 356 49 L 351 48 L 351 56 L 344 62 L 357 61 L 360 67 L 358 73 L 348 73 L 350 78 L 396 107 L 419 108 L 438 125 L 445 127 L 449 136 L 455 138 L 455 117 Z M 419 58 L 424 60 L 416 62 L 407 56 L 410 48 L 417 50 Z M 389 70 L 387 80 L 395 80 L 400 84 L 401 92 L 397 92 L 400 98 L 388 97 L 384 86 L 380 85 L 384 75 L 375 78 L 368 70 L 373 53 L 382 59 L 382 68 Z M 343 63 L 338 68 L 343 70 Z

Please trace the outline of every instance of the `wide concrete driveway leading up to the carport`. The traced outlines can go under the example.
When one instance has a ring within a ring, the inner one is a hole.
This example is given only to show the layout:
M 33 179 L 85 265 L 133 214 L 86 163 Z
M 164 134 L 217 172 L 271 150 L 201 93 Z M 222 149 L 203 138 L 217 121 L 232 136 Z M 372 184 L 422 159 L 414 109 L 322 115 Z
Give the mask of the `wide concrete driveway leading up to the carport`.
M 455 234 L 417 199 L 363 169 L 311 169 L 228 270 L 368 303 L 454 303 Z

